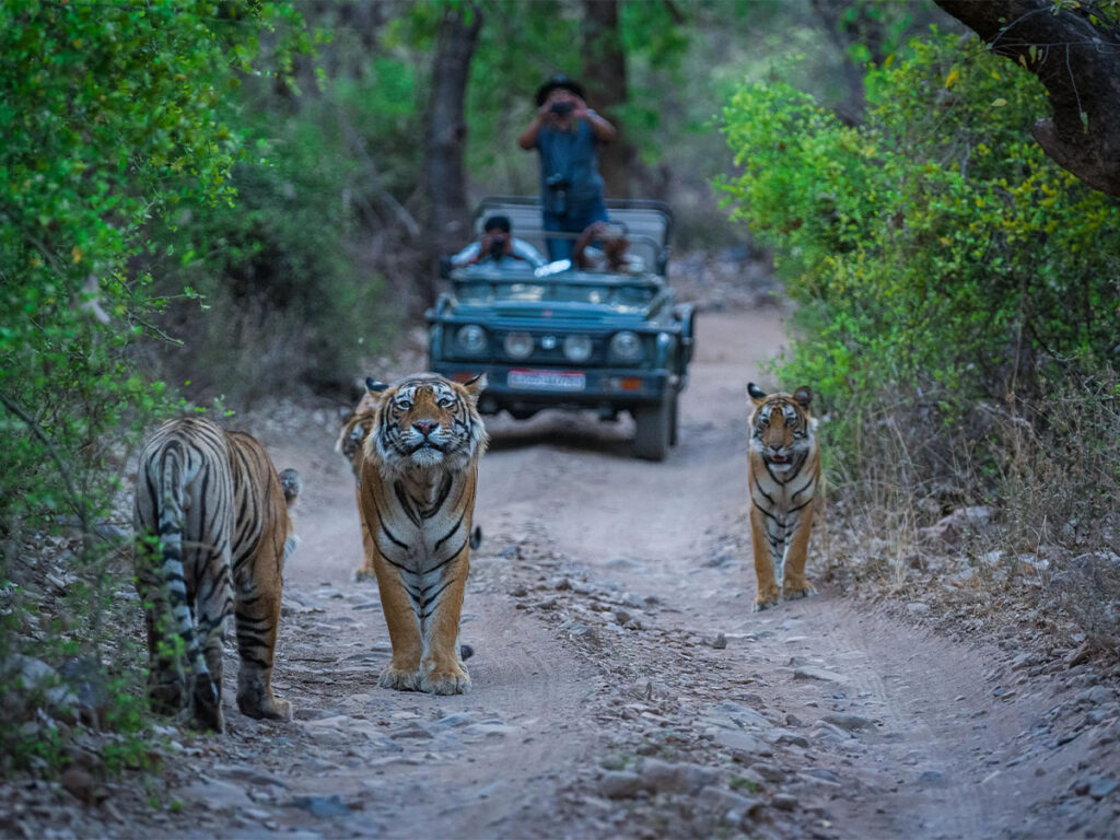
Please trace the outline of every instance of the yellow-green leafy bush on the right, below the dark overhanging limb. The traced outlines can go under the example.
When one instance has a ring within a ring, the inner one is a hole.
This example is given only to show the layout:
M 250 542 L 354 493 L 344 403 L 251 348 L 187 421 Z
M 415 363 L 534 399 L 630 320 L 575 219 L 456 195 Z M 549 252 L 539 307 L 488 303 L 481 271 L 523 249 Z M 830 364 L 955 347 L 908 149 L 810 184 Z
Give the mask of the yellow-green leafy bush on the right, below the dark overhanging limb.
M 1036 363 L 1100 368 L 1120 208 L 1030 138 L 1034 77 L 934 34 L 872 68 L 867 95 L 855 128 L 784 84 L 725 111 L 743 171 L 721 187 L 800 305 L 781 376 L 823 393 L 832 440 L 885 393 L 952 419 L 1032 395 Z

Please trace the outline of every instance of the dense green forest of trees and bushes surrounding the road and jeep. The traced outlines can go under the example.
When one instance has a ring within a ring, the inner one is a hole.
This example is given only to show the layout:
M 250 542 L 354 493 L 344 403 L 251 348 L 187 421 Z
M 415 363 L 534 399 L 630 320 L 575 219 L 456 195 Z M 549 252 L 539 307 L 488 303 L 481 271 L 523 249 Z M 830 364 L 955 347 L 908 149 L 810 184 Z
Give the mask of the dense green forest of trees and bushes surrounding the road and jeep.
M 774 380 L 820 394 L 844 533 L 897 544 L 991 506 L 1008 551 L 1111 552 L 1076 568 L 1114 599 L 1117 9 L 4 3 L 0 660 L 92 661 L 137 696 L 105 627 L 140 435 L 348 399 L 473 203 L 534 192 L 514 138 L 554 72 L 622 130 L 609 195 L 670 202 L 679 251 L 773 256 L 796 305 Z M 1120 616 L 1084 623 L 1114 638 Z M 113 708 L 104 726 L 142 728 Z M 40 730 L 6 732 L 6 760 L 57 763 Z

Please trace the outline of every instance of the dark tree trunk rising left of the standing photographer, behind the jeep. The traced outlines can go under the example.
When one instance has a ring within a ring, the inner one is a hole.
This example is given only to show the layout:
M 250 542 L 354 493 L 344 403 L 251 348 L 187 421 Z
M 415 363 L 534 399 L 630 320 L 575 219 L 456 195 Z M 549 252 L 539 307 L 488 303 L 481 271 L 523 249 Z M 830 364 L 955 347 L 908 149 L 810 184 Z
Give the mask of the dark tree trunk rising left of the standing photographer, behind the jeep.
M 444 12 L 436 35 L 423 150 L 431 252 L 427 279 L 420 288 L 427 304 L 436 299 L 435 269 L 439 258 L 458 251 L 470 239 L 470 209 L 463 165 L 467 144 L 465 105 L 470 59 L 482 24 L 479 9 L 465 3 Z

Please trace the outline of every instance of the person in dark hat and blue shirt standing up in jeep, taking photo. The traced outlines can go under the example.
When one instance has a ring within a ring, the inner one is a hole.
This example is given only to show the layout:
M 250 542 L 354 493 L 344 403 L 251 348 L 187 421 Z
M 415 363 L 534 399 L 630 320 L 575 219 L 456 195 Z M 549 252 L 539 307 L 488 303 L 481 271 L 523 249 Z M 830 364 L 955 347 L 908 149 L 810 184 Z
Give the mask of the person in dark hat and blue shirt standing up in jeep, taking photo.
M 541 157 L 544 230 L 578 234 L 607 221 L 597 147 L 614 139 L 615 127 L 587 106 L 584 87 L 562 74 L 536 91 L 536 115 L 517 138 Z M 549 237 L 549 259 L 570 259 L 572 242 Z

